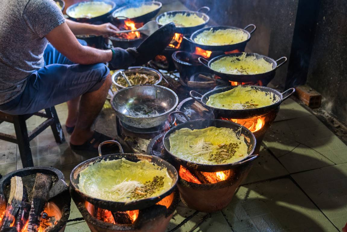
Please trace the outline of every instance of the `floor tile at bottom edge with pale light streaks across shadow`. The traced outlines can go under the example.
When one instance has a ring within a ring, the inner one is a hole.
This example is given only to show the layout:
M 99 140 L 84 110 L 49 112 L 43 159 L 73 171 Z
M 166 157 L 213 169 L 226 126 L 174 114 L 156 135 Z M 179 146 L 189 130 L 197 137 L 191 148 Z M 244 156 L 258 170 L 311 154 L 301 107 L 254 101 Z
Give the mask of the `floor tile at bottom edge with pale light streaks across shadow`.
M 289 178 L 241 186 L 222 210 L 233 231 L 337 231 Z

